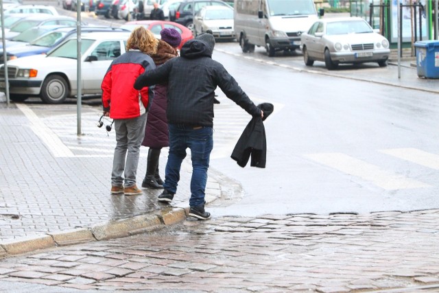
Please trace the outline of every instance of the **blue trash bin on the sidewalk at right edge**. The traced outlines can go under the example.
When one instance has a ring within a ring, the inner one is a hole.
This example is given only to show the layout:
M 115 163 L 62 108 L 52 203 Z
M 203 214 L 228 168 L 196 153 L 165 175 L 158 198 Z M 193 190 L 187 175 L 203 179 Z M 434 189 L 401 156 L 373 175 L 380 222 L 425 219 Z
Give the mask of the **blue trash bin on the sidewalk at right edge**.
M 416 69 L 420 78 L 439 78 L 439 41 L 420 40 L 416 48 Z

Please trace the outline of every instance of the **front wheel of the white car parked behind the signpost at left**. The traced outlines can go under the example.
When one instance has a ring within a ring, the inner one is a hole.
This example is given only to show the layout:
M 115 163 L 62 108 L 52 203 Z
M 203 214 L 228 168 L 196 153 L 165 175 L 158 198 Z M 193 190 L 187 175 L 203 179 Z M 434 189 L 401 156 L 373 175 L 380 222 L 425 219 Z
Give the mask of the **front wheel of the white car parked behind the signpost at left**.
M 41 87 L 41 99 L 47 104 L 61 104 L 67 98 L 68 85 L 61 75 L 50 75 Z

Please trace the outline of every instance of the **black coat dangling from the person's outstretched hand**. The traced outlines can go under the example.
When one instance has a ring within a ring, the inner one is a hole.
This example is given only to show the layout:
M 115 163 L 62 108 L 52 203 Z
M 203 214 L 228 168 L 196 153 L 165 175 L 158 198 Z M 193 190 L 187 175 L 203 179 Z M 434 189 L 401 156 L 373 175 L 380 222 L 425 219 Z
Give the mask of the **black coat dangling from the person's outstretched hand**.
M 267 161 L 267 139 L 262 121 L 273 112 L 274 106 L 270 103 L 263 103 L 259 104 L 258 108 L 263 111 L 263 118 L 254 116 L 250 120 L 231 155 L 231 158 L 243 168 L 246 167 L 250 155 L 252 156 L 251 167 L 265 168 Z

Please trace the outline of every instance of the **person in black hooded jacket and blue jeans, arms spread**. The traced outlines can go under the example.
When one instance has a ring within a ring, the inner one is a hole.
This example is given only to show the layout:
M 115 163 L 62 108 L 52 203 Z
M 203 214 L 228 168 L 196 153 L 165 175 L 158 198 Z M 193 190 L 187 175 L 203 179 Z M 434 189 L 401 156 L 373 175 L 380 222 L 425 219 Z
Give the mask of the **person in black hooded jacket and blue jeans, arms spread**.
M 158 201 L 171 202 L 180 180 L 180 167 L 191 150 L 192 178 L 189 215 L 207 220 L 211 214 L 204 209 L 207 169 L 213 148 L 213 100 L 219 86 L 229 99 L 252 116 L 263 117 L 263 112 L 244 93 L 236 80 L 217 61 L 212 60 L 215 38 L 200 34 L 188 40 L 180 50 L 180 57 L 172 58 L 157 69 L 142 74 L 134 82 L 134 89 L 168 82 L 167 121 L 169 156 L 165 169 L 164 190 Z

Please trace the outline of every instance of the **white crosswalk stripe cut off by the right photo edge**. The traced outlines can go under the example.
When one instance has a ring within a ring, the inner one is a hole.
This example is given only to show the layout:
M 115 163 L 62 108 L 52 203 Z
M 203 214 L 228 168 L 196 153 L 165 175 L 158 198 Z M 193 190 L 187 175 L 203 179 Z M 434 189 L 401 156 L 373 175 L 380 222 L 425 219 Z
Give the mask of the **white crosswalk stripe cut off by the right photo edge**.
M 381 150 L 384 154 L 396 156 L 396 158 L 403 159 L 418 165 L 423 165 L 431 169 L 439 170 L 439 155 L 424 152 L 416 148 L 394 148 L 390 150 Z

